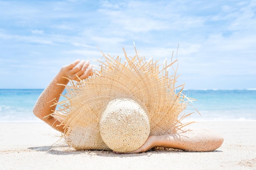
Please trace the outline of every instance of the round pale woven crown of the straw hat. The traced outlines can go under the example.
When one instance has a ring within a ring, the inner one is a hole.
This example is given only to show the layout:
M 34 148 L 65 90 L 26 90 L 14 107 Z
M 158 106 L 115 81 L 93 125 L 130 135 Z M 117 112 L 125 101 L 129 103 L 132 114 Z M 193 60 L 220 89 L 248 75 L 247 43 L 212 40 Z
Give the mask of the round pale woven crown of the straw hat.
M 131 99 L 114 99 L 106 106 L 99 123 L 101 138 L 116 152 L 131 152 L 148 139 L 146 111 Z

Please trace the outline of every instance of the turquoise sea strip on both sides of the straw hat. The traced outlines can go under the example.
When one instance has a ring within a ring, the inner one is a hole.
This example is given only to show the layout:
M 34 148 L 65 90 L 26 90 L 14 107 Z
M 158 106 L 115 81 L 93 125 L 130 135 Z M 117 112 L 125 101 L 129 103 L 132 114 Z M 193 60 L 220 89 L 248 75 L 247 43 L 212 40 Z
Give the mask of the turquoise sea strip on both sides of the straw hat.
M 40 121 L 32 113 L 43 89 L 0 89 L 0 122 Z M 193 120 L 256 120 L 256 89 L 186 90 L 186 96 L 197 99 L 198 113 Z M 193 110 L 188 106 L 185 113 Z

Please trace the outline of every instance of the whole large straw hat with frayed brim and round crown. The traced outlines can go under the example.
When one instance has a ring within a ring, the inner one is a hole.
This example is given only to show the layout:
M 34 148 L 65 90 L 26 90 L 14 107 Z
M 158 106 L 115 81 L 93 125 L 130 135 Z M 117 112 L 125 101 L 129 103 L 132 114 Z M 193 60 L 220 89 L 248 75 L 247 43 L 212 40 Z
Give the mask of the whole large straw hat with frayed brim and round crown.
M 149 135 L 176 133 L 186 126 L 180 115 L 186 108 L 183 85 L 172 62 L 159 65 L 137 54 L 121 62 L 104 55 L 101 67 L 90 78 L 70 80 L 56 115 L 63 117 L 65 140 L 77 150 L 130 152 L 140 148 Z M 162 67 L 162 69 L 160 69 Z M 173 75 L 169 75 L 172 68 Z

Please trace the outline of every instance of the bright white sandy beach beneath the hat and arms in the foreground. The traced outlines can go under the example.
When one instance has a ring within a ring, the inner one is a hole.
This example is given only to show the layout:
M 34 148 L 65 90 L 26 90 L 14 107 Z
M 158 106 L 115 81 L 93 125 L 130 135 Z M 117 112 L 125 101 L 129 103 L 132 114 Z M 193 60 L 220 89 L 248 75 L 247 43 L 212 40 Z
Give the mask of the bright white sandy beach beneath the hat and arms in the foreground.
M 220 132 L 224 143 L 218 150 L 150 150 L 132 155 L 73 150 L 45 123 L 0 123 L 0 170 L 256 170 L 256 121 L 202 123 L 190 128 Z

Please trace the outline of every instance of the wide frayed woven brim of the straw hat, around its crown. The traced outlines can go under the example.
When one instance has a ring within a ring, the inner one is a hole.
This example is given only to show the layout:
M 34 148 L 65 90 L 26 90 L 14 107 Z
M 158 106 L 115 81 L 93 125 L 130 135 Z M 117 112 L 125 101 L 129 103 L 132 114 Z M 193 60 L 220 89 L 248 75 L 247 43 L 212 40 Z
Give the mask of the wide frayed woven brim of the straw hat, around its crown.
M 115 99 L 129 99 L 141 106 L 149 119 L 149 135 L 176 133 L 187 125 L 180 122 L 190 114 L 179 116 L 186 108 L 187 98 L 182 90 L 176 92 L 184 86 L 175 86 L 177 68 L 173 69 L 172 64 L 176 61 L 159 65 L 153 58 L 146 61 L 136 49 L 135 52 L 134 57 L 128 57 L 124 51 L 124 62 L 119 57 L 103 55 L 105 61 L 97 60 L 101 66 L 94 69 L 90 78 L 80 82 L 70 80 L 72 85 L 66 86 L 66 99 L 57 103 L 61 107 L 55 113 L 64 119 L 61 125 L 65 125 L 67 144 L 78 150 L 109 150 L 101 138 L 99 122 L 106 106 Z M 173 71 L 172 75 L 168 68 Z M 112 136 L 109 139 L 112 140 Z M 144 137 L 139 140 L 144 141 Z M 130 145 L 137 142 L 134 139 Z

